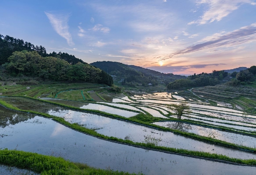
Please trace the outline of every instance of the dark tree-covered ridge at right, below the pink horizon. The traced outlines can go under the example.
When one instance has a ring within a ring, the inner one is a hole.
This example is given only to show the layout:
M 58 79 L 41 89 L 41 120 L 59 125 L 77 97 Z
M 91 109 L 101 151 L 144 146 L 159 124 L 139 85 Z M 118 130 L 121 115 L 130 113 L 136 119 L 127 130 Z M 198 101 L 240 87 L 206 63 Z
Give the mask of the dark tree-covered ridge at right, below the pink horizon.
M 252 66 L 249 69 L 241 70 L 240 72 L 233 72 L 228 75 L 228 72 L 224 70 L 213 70 L 212 73 L 201 73 L 201 74 L 194 74 L 188 76 L 187 79 L 180 79 L 175 80 L 172 83 L 167 85 L 168 90 L 179 90 L 191 87 L 200 87 L 200 86 L 214 86 L 216 84 L 223 84 L 229 86 L 237 86 L 239 84 L 250 84 L 253 81 L 254 75 L 256 74 L 256 66 Z M 227 79 L 224 80 L 227 76 L 229 79 L 232 78 L 230 81 Z

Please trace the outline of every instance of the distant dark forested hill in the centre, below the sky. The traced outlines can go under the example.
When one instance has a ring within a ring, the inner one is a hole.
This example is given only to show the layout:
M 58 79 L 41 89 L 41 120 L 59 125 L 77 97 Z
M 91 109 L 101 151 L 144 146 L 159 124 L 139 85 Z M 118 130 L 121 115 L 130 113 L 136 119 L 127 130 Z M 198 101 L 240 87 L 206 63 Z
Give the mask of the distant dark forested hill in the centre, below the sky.
M 127 65 L 120 62 L 102 61 L 93 62 L 91 65 L 107 71 L 110 75 L 115 76 L 116 81 L 122 81 L 123 85 L 132 85 L 134 83 L 140 83 L 143 86 L 147 86 L 148 84 L 155 86 L 159 83 L 167 85 L 176 79 L 187 78 L 181 75 L 164 74 L 155 70 Z

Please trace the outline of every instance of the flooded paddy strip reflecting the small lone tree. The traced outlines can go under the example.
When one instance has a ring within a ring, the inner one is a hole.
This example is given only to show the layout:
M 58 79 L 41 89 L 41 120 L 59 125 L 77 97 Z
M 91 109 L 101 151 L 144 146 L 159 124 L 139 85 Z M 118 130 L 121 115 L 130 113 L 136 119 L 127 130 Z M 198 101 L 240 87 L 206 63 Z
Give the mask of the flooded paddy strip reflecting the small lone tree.
M 153 124 L 163 126 L 166 128 L 178 129 L 181 131 L 211 137 L 218 140 L 234 143 L 236 145 L 243 145 L 246 147 L 256 148 L 256 137 L 249 135 L 241 135 L 232 132 L 225 132 L 218 129 L 207 128 L 197 125 L 191 125 L 183 122 L 155 122 Z

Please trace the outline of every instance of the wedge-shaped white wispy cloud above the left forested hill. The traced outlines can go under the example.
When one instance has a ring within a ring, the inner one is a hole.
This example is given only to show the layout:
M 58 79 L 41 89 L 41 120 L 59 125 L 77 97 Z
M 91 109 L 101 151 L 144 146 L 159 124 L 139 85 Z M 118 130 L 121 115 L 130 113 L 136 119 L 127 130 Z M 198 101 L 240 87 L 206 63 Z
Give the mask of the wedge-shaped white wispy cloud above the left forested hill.
M 54 30 L 63 38 L 67 40 L 67 43 L 69 46 L 74 45 L 72 41 L 72 36 L 68 32 L 68 18 L 69 14 L 51 14 L 48 12 L 44 12 L 48 19 L 50 20 L 50 23 L 52 24 L 52 27 Z

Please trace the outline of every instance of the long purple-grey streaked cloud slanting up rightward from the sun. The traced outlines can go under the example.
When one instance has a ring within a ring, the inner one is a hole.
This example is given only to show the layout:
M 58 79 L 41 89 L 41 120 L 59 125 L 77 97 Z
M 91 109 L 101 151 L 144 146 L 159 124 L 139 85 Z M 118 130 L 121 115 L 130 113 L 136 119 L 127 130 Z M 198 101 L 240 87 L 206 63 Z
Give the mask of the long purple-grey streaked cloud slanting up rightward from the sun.
M 232 32 L 221 32 L 206 37 L 191 47 L 177 51 L 169 56 L 162 57 L 160 60 L 166 60 L 174 56 L 188 54 L 200 50 L 216 49 L 218 47 L 234 47 L 240 44 L 256 41 L 256 23 L 250 26 L 244 26 Z

